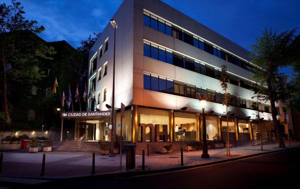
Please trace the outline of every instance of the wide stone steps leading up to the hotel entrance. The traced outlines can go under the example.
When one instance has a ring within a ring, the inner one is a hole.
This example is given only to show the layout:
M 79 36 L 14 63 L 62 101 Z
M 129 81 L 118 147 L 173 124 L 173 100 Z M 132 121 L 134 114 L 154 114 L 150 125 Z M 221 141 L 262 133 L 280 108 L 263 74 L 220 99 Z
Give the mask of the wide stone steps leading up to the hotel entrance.
M 110 148 L 111 142 L 104 142 Z M 84 142 L 80 147 L 80 152 L 99 152 L 98 142 Z M 53 141 L 52 151 L 78 152 L 78 141 Z

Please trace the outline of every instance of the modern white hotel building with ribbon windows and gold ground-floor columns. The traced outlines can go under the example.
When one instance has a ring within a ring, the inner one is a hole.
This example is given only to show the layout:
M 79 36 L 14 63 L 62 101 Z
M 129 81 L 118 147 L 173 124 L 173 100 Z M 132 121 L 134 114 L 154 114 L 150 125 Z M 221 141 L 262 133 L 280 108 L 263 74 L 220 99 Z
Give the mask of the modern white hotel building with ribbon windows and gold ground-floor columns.
M 122 125 L 120 112 L 116 113 L 118 141 L 121 127 L 124 141 L 159 142 L 159 131 L 160 141 L 163 135 L 170 142 L 201 141 L 201 95 L 207 99 L 205 112 L 214 111 L 206 115 L 207 139 L 216 135 L 226 139 L 222 117 L 226 107 L 218 79 L 221 65 L 227 66 L 232 95 L 229 110 L 234 113 L 229 139 L 249 141 L 257 133 L 274 132 L 270 105 L 258 103 L 259 110 L 265 111 L 260 114 L 264 118 L 260 124 L 251 106 L 253 102 L 257 105 L 257 99 L 252 99 L 255 82 L 248 69 L 253 64 L 247 50 L 159 0 L 125 0 L 113 19 L 118 24 L 115 107 L 125 104 Z M 111 110 L 106 105 L 112 105 L 114 28 L 107 23 L 89 51 L 89 111 Z M 284 120 L 282 103 L 276 106 L 278 119 Z M 86 130 L 88 140 L 109 141 L 111 118 L 76 119 L 75 138 Z

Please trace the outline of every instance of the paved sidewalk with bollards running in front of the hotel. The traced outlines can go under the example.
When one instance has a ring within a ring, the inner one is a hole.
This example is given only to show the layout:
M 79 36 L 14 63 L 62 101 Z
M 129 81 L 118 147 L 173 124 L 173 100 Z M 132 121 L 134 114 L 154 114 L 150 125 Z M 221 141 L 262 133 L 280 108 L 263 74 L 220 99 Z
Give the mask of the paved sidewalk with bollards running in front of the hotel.
M 288 149 L 289 144 L 286 144 Z M 300 147 L 300 142 L 291 143 L 290 148 Z M 202 159 L 202 150 L 183 152 L 184 166 L 180 166 L 180 151 L 165 154 L 145 153 L 146 170 L 162 170 L 179 168 L 186 166 L 202 165 L 207 163 L 217 163 L 219 161 L 240 158 L 253 154 L 282 150 L 278 144 L 263 146 L 264 151 L 260 151 L 260 146 L 238 146 L 230 148 L 232 157 L 226 156 L 226 148 L 210 149 L 209 159 Z M 28 149 L 27 149 L 28 150 Z M 76 176 L 91 175 L 92 153 L 72 153 L 72 152 L 48 152 L 46 153 L 45 175 L 41 174 L 43 152 L 24 153 L 24 151 L 11 150 L 3 152 L 3 165 L 0 177 L 27 177 L 27 178 L 67 178 Z M 102 156 L 95 154 L 95 172 L 97 174 L 122 173 L 142 171 L 142 156 L 136 156 L 136 168 L 126 170 L 126 156 L 122 155 L 122 170 L 119 170 L 120 155 L 116 157 Z

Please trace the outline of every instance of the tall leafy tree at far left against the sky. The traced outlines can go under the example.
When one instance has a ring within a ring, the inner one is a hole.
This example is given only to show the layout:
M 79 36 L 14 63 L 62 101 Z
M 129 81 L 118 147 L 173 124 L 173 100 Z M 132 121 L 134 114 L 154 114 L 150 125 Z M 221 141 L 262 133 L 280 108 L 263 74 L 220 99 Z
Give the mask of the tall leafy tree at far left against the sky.
M 45 28 L 36 26 L 37 21 L 25 20 L 23 8 L 16 0 L 12 0 L 11 5 L 0 4 L 0 74 L 2 76 L 0 93 L 2 112 L 7 124 L 11 123 L 7 101 L 7 81 L 10 85 L 19 88 L 23 87 L 22 84 L 32 87 L 32 84 L 44 75 L 39 70 L 39 61 L 51 59 L 47 55 L 55 53 L 53 47 L 47 47 L 45 43 L 37 43 L 36 40 L 32 41 L 33 37 L 29 33 L 35 35 L 44 31 Z M 30 89 L 27 88 L 28 90 Z

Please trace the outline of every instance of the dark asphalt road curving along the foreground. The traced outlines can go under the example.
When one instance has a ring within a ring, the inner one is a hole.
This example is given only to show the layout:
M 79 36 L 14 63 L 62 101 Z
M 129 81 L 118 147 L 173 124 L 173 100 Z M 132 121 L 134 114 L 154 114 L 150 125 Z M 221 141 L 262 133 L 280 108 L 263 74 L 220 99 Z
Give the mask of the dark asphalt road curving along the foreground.
M 13 188 L 298 188 L 300 149 L 217 165 L 134 177 L 92 176 L 35 185 L 0 182 Z M 295 183 L 295 185 L 292 185 Z M 1 188 L 1 187 L 0 187 Z

